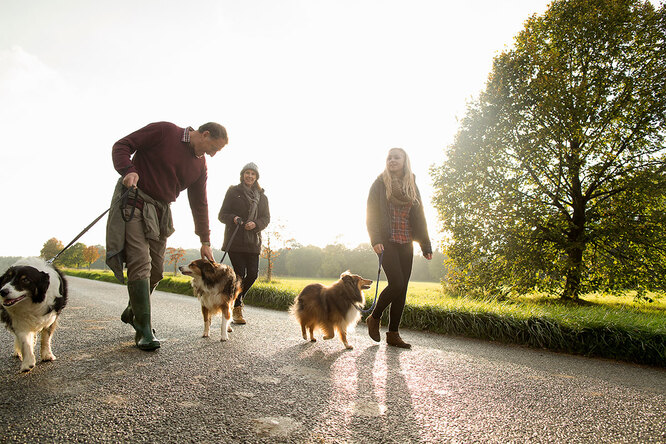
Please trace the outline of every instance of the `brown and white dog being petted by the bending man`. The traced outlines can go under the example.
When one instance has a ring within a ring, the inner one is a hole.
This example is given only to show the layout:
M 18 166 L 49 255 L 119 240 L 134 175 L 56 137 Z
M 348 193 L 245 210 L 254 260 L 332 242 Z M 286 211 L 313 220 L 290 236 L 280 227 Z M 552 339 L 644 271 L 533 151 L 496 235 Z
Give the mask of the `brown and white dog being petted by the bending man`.
M 221 313 L 221 340 L 228 340 L 228 332 L 232 331 L 231 310 L 241 290 L 240 280 L 236 278 L 233 268 L 206 259 L 197 259 L 179 269 L 184 275 L 192 276 L 192 289 L 201 302 L 201 313 L 204 317 L 203 337 L 209 336 L 213 315 Z

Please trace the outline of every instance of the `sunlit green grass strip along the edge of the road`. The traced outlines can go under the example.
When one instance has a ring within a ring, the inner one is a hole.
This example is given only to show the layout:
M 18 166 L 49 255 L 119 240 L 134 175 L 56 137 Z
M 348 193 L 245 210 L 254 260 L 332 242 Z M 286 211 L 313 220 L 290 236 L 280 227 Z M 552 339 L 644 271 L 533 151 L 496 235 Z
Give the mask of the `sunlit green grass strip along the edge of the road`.
M 109 271 L 64 270 L 66 274 L 115 282 Z M 335 279 L 278 278 L 257 280 L 245 296 L 248 305 L 288 310 L 309 283 L 329 285 Z M 379 284 L 379 292 L 386 282 Z M 165 277 L 161 291 L 192 295 L 190 278 Z M 366 290 L 366 308 L 375 296 Z M 454 298 L 433 282 L 410 282 L 403 328 L 527 345 L 554 351 L 666 366 L 666 295 L 650 294 L 652 303 L 636 303 L 634 295 L 585 295 L 564 302 L 544 294 L 504 301 Z M 388 323 L 388 310 L 382 318 Z

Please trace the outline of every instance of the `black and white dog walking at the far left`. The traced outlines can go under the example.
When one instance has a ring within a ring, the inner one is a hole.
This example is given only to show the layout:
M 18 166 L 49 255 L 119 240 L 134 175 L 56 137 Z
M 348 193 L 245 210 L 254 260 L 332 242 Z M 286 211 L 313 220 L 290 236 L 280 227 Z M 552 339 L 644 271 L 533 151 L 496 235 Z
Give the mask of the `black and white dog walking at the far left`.
M 0 277 L 0 319 L 14 333 L 14 356 L 21 371 L 35 366 L 35 340 L 41 332 L 42 361 L 53 361 L 51 337 L 58 315 L 67 303 L 62 273 L 42 259 L 20 259 Z

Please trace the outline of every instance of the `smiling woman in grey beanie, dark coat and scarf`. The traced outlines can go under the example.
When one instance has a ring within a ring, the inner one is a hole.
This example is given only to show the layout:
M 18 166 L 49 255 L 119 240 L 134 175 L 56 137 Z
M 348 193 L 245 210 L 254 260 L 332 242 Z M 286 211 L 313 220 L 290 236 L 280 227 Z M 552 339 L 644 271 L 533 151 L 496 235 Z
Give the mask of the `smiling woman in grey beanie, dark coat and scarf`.
M 227 251 L 236 276 L 242 279 L 241 293 L 236 299 L 233 322 L 245 324 L 243 297 L 252 287 L 259 273 L 261 231 L 268 226 L 271 214 L 268 198 L 259 186 L 259 168 L 253 162 L 243 167 L 240 183 L 227 190 L 218 219 L 226 225 L 222 249 Z M 229 245 L 236 225 L 242 225 Z

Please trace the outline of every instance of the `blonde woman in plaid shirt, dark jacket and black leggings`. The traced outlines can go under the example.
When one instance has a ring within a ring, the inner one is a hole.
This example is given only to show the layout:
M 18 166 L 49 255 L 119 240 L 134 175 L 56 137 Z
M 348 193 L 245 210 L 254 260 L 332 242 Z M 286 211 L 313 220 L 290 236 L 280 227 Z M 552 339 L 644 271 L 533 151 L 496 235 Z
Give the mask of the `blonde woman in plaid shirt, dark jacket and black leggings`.
M 366 319 L 368 333 L 374 341 L 380 341 L 380 319 L 390 305 L 386 343 L 411 348 L 400 337 L 398 327 L 412 274 L 413 242 L 420 244 L 423 256 L 428 260 L 432 259 L 432 247 L 421 194 L 414 181 L 409 157 L 402 148 L 389 150 L 384 172 L 370 187 L 366 223 L 373 250 L 377 255 L 384 254 L 382 268 L 388 280 L 388 286 Z

